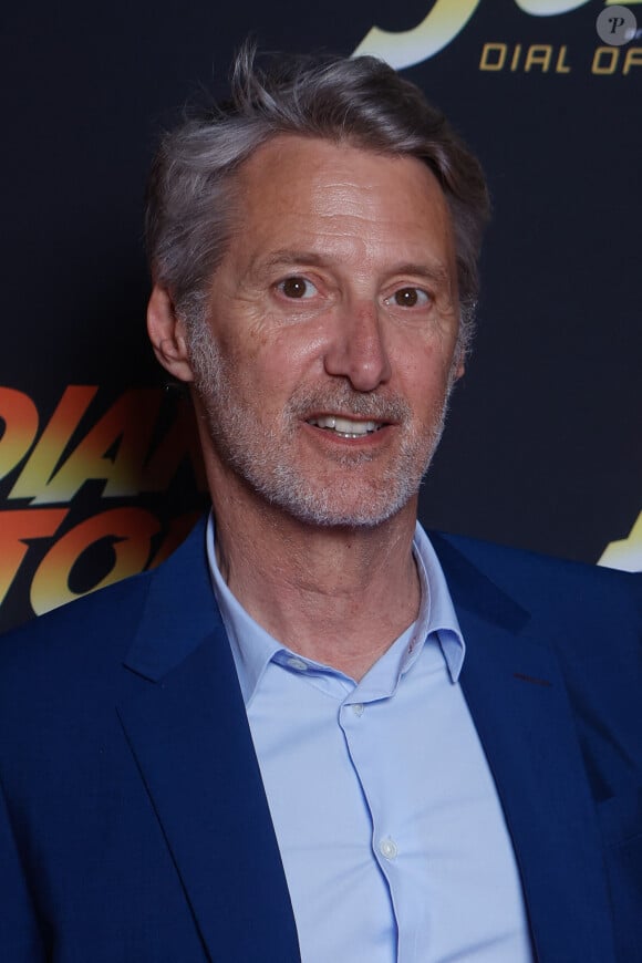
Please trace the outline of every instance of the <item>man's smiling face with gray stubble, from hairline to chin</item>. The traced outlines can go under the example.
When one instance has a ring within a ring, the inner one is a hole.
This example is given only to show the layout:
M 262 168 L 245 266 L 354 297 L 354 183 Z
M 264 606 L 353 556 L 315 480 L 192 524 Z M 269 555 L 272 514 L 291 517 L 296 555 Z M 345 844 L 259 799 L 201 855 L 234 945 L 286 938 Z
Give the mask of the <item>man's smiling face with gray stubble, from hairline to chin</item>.
M 414 158 L 293 136 L 237 186 L 190 342 L 215 488 L 308 524 L 380 524 L 416 499 L 460 373 L 443 193 Z

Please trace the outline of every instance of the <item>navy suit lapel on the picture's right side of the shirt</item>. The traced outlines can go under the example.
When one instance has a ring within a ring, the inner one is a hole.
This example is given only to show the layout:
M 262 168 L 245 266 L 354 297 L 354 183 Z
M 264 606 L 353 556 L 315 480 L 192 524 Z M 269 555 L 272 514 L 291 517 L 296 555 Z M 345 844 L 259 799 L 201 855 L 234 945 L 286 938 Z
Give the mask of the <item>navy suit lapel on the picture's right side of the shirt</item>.
M 447 540 L 433 542 L 466 639 L 462 686 L 517 853 L 538 960 L 609 963 L 601 840 L 550 627 L 531 624 Z

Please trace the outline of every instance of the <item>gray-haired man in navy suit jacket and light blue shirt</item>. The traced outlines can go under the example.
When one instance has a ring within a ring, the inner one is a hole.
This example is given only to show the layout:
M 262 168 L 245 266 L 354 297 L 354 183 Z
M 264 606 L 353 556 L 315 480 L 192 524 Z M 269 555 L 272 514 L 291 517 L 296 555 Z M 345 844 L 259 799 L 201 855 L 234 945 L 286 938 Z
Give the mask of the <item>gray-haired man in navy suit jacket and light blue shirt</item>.
M 244 51 L 165 138 L 148 328 L 213 515 L 6 640 L 2 959 L 642 959 L 631 579 L 416 526 L 486 214 L 370 59 Z

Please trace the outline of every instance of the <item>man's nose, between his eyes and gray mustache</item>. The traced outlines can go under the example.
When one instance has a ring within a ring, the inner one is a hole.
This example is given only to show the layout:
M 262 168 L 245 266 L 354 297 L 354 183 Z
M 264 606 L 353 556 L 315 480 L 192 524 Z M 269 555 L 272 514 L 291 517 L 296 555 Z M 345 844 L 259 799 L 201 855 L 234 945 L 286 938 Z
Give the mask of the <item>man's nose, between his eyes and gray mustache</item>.
M 324 364 L 328 374 L 346 377 L 355 391 L 374 391 L 390 380 L 392 369 L 375 303 L 345 306 L 336 319 Z

